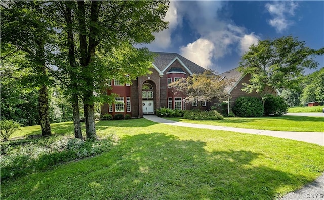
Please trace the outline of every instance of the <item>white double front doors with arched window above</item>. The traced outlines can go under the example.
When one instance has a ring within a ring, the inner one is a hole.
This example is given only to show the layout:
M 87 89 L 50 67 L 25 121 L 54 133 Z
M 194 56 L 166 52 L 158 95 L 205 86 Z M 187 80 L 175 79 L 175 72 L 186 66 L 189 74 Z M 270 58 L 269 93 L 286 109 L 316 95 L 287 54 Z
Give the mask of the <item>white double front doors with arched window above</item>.
M 149 83 L 142 86 L 143 114 L 154 114 L 153 87 Z

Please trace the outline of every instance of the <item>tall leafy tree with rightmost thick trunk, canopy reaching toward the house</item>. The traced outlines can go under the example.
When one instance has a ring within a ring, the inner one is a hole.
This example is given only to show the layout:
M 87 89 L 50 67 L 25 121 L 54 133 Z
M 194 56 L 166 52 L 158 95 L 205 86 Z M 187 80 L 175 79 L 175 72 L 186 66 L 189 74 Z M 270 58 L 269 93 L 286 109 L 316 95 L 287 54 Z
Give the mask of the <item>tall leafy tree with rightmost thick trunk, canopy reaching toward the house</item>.
M 80 75 L 84 82 L 80 89 L 83 95 L 87 138 L 96 137 L 93 93 L 96 89 L 96 78 L 105 78 L 98 74 L 102 72 L 99 61 L 103 58 L 100 56 L 114 58 L 112 52 L 115 49 L 126 47 L 133 52 L 135 49 L 130 45 L 153 41 L 152 32 L 167 27 L 168 23 L 162 20 L 167 9 L 166 2 L 157 1 L 77 1 Z M 125 56 L 127 55 L 123 55 Z M 111 66 L 110 63 L 108 65 Z M 147 72 L 146 68 L 145 73 Z M 120 71 L 116 72 L 116 76 L 120 74 Z M 137 72 L 135 75 L 141 74 Z

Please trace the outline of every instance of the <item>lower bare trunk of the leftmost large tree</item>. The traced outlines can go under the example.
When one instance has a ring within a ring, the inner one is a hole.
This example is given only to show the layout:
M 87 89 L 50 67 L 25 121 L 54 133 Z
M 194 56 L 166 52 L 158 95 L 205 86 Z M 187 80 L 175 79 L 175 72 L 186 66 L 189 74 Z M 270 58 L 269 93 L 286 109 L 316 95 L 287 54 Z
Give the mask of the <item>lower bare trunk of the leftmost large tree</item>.
M 38 103 L 39 117 L 41 118 L 42 136 L 52 136 L 49 119 L 49 96 L 46 85 L 42 85 L 41 89 L 38 90 Z

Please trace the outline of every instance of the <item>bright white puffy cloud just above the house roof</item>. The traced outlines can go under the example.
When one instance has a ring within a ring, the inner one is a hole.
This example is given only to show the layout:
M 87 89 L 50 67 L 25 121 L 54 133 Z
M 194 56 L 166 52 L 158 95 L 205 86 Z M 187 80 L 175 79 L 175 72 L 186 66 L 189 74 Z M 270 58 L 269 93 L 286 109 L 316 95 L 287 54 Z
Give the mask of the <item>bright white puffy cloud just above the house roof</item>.
M 213 42 L 200 38 L 193 43 L 180 48 L 181 55 L 192 62 L 208 69 L 212 65 L 212 56 L 215 46 Z

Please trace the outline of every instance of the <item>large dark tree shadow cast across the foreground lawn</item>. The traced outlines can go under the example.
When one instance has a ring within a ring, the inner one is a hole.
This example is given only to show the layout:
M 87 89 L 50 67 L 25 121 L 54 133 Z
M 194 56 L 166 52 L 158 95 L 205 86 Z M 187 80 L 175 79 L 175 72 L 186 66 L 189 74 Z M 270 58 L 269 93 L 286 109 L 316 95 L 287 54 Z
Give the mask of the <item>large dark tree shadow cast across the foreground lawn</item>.
M 126 136 L 101 156 L 8 182 L 2 195 L 12 199 L 273 199 L 280 188 L 307 182 L 303 176 L 252 165 L 262 154 L 209 152 L 205 145 L 164 133 Z

